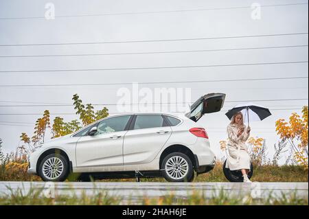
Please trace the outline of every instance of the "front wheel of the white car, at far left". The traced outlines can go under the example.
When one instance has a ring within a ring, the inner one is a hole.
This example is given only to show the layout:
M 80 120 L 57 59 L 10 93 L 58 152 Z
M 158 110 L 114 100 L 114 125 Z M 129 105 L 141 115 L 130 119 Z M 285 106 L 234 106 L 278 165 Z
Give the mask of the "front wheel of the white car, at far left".
M 38 175 L 43 181 L 65 181 L 69 175 L 69 162 L 62 154 L 48 154 L 38 167 Z

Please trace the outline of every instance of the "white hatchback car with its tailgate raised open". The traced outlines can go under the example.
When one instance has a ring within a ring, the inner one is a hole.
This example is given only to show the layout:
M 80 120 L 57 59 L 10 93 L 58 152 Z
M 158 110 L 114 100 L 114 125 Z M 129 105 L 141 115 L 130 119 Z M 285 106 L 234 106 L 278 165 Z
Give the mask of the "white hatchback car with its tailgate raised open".
M 193 181 L 214 168 L 207 132 L 196 126 L 205 113 L 220 111 L 224 93 L 202 96 L 183 116 L 132 113 L 100 119 L 73 134 L 40 145 L 30 155 L 29 174 L 65 181 L 71 173 L 89 178 L 163 176 Z

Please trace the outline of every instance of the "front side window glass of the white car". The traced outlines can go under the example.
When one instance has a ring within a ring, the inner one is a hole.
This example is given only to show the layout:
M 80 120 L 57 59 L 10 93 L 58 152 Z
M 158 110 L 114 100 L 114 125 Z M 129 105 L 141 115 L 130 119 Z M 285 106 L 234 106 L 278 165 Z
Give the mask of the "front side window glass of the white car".
M 98 124 L 98 131 L 95 135 L 106 134 L 109 132 L 121 132 L 126 128 L 126 124 L 130 119 L 130 115 L 112 117 L 104 119 Z

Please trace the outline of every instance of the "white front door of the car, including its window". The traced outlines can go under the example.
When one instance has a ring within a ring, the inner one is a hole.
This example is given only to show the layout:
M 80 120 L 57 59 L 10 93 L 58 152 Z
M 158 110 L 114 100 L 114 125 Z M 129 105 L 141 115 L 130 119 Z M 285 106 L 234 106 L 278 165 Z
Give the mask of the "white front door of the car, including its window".
M 123 165 L 124 135 L 131 115 L 111 117 L 98 122 L 95 135 L 80 137 L 76 146 L 78 167 Z

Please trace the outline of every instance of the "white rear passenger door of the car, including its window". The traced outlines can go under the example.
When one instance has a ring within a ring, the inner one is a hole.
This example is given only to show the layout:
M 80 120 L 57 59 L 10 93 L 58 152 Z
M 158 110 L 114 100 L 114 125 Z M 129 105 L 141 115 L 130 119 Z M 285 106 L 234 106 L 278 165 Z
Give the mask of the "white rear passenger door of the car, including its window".
M 124 165 L 150 163 L 171 134 L 162 115 L 135 115 L 124 137 Z

